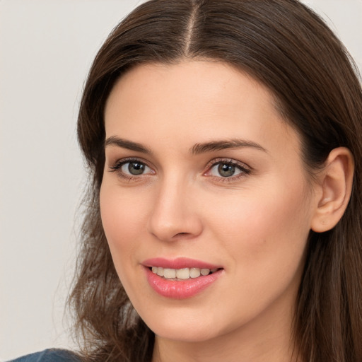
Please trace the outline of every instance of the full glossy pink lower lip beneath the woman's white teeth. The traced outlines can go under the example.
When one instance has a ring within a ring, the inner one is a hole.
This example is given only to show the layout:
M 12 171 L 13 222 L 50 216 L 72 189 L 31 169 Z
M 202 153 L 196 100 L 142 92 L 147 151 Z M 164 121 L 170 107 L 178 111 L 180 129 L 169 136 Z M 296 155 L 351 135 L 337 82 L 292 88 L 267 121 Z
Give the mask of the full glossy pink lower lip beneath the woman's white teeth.
M 148 267 L 145 267 L 145 269 L 147 280 L 151 288 L 160 294 L 160 296 L 173 299 L 186 299 L 195 296 L 208 286 L 211 286 L 211 284 L 213 284 L 214 281 L 221 276 L 223 271 L 223 269 L 220 269 L 206 276 L 174 281 L 158 276 Z

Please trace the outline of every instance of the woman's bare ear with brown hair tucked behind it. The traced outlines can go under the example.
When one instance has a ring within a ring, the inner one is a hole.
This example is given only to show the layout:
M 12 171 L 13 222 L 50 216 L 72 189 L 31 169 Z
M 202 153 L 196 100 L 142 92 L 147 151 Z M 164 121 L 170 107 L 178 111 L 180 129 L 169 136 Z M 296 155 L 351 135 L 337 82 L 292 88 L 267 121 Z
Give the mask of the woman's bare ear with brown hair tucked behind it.
M 354 158 L 348 148 L 334 148 L 317 176 L 321 191 L 311 229 L 317 233 L 330 230 L 344 214 L 351 197 Z

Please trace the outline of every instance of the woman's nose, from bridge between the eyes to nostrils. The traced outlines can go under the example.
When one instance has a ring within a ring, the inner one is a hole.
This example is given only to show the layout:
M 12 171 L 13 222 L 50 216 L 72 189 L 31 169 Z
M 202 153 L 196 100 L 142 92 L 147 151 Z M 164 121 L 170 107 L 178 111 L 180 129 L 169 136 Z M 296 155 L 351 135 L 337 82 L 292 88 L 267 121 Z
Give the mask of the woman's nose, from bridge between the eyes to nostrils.
M 164 180 L 158 186 L 148 230 L 162 241 L 185 240 L 202 233 L 195 190 L 185 180 Z

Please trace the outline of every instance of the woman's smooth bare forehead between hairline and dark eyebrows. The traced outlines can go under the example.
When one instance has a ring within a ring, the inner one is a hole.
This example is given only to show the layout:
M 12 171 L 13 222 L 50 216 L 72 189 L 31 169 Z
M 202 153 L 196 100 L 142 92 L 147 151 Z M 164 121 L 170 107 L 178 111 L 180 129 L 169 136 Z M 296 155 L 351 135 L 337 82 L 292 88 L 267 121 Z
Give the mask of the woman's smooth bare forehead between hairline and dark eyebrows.
M 296 132 L 262 83 L 229 64 L 208 60 L 136 66 L 112 89 L 105 127 L 107 137 L 158 141 L 158 146 L 238 137 L 278 145 L 288 136 L 299 148 Z

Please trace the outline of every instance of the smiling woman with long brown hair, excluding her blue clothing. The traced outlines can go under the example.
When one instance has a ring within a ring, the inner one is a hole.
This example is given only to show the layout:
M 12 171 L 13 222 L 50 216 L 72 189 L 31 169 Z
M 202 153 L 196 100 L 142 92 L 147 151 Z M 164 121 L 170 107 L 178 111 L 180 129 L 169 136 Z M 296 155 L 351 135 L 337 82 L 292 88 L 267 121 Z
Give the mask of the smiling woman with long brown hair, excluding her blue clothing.
M 78 117 L 79 358 L 361 361 L 361 119 L 346 50 L 296 0 L 136 8 Z

